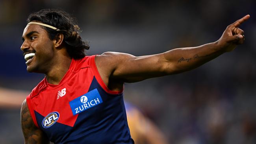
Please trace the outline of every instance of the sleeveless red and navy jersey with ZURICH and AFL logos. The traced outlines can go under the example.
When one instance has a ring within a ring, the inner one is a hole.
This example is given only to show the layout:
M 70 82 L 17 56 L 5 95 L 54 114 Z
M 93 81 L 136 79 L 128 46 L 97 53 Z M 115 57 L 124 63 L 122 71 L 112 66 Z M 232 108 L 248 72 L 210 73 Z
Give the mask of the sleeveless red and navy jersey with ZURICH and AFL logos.
M 58 85 L 43 79 L 26 98 L 33 122 L 56 144 L 133 144 L 122 91 L 102 81 L 95 55 L 72 59 Z

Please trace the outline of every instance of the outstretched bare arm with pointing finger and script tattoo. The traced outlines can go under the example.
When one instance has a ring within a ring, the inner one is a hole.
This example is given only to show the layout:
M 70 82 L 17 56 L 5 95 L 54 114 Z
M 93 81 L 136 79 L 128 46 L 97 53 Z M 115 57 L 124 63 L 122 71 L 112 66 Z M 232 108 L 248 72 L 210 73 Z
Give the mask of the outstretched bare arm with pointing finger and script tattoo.
M 115 87 L 112 83 L 136 82 L 191 70 L 242 44 L 244 31 L 238 27 L 249 17 L 246 15 L 230 24 L 218 41 L 202 46 L 176 48 L 162 54 L 140 57 L 106 52 L 96 57 L 98 71 L 111 89 Z

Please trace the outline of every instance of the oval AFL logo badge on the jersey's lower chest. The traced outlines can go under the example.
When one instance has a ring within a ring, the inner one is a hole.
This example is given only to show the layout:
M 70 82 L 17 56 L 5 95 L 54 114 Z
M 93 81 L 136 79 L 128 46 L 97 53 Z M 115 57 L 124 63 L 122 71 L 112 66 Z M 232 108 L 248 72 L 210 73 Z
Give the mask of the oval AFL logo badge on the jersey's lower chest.
M 57 122 L 58 119 L 59 119 L 59 113 L 58 112 L 55 111 L 55 112 L 49 113 L 43 119 L 42 126 L 44 128 L 51 127 L 52 125 L 54 125 Z

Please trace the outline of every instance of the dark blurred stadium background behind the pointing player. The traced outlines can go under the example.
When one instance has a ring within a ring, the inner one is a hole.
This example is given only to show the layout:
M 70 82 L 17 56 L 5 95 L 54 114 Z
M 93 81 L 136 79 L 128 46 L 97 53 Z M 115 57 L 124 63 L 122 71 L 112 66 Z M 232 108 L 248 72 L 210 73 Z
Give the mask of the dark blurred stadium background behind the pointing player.
M 29 13 L 60 8 L 76 17 L 88 55 L 136 56 L 199 46 L 241 25 L 246 41 L 182 74 L 126 83 L 124 98 L 171 144 L 256 144 L 255 0 L 0 0 L 0 141 L 21 144 L 20 107 L 44 78 L 26 72 L 20 46 Z

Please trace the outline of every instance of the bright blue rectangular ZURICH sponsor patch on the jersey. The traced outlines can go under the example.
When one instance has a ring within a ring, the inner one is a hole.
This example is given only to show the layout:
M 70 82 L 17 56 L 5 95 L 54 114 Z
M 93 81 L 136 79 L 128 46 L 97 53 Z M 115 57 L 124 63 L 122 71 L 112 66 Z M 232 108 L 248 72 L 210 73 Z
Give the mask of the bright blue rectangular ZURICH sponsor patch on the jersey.
M 81 113 L 91 107 L 102 103 L 100 93 L 97 89 L 91 90 L 82 96 L 69 102 L 73 115 Z

